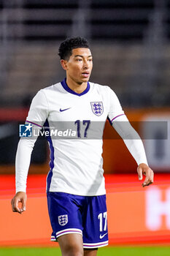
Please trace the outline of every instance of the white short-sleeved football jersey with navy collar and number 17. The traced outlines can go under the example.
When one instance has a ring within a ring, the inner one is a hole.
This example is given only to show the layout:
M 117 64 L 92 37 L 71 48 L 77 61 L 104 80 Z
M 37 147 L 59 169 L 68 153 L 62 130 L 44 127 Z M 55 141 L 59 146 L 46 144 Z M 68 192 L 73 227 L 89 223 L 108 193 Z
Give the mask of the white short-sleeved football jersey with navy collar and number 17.
M 59 132 L 47 137 L 50 146 L 47 191 L 105 194 L 101 133 L 107 118 L 113 121 L 121 115 L 124 112 L 115 93 L 97 83 L 88 83 L 87 89 L 77 94 L 63 80 L 36 94 L 26 121 L 39 129 L 45 123 L 48 131 L 59 127 L 58 131 L 62 129 L 69 136 L 60 138 Z

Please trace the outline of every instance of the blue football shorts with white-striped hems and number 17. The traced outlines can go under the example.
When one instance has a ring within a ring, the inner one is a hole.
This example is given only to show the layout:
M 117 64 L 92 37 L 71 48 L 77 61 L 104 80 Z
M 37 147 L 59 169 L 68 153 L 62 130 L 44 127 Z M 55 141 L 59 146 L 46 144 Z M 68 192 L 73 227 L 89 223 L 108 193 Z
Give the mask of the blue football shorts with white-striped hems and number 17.
M 47 192 L 47 205 L 53 228 L 51 241 L 65 234 L 78 233 L 82 235 L 84 248 L 108 244 L 106 195 Z

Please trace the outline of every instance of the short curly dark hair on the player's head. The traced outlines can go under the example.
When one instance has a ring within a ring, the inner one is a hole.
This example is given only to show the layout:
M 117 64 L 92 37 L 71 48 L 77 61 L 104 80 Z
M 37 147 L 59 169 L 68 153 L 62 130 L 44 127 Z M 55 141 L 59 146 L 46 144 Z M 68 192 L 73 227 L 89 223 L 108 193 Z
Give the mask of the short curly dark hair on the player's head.
M 69 59 L 72 55 L 72 50 L 75 48 L 89 48 L 88 41 L 83 37 L 71 37 L 61 42 L 58 49 L 58 55 L 61 59 Z

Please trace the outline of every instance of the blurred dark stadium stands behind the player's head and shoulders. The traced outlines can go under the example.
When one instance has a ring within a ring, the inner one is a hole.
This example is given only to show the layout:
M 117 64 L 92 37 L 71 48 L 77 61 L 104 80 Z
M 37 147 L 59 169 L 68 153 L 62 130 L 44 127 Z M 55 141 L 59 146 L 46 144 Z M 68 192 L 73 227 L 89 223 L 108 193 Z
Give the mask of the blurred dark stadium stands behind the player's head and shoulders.
M 90 80 L 114 89 L 123 108 L 170 107 L 170 0 L 0 0 L 2 123 L 24 121 L 16 113 L 63 80 L 58 46 L 77 35 L 91 45 Z

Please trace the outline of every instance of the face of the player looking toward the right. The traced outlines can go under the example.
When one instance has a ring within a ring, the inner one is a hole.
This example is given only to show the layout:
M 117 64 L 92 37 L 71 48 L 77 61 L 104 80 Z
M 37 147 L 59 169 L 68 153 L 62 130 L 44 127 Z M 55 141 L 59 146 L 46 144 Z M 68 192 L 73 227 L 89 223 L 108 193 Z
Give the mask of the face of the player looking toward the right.
M 72 50 L 69 60 L 61 60 L 63 69 L 66 70 L 66 77 L 75 83 L 87 83 L 93 67 L 93 60 L 90 49 L 76 48 Z

